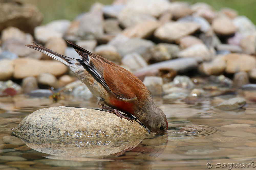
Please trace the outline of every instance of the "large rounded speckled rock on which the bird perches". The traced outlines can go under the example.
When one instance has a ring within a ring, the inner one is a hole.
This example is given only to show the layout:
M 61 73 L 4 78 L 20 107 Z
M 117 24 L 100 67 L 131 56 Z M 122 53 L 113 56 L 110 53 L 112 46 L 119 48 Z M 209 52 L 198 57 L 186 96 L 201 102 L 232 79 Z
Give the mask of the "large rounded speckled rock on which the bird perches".
M 25 137 L 92 139 L 144 136 L 147 130 L 136 121 L 121 120 L 105 111 L 59 106 L 31 113 L 14 133 Z

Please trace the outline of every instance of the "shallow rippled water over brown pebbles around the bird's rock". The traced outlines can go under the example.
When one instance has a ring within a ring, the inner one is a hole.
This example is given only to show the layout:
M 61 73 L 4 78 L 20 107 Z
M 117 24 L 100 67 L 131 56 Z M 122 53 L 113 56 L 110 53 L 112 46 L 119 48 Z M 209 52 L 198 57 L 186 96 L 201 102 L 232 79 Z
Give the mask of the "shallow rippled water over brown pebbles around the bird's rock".
M 246 98 L 248 106 L 234 111 L 212 107 L 220 99 L 236 96 L 233 92 L 220 95 L 212 90 L 210 97 L 190 99 L 192 104 L 154 98 L 168 118 L 169 128 L 164 135 L 98 141 L 21 137 L 27 145 L 1 149 L 0 169 L 207 169 L 211 166 L 212 169 L 221 166 L 250 169 L 256 165 L 254 93 L 236 89 L 235 94 Z M 97 109 L 94 99 L 82 101 L 71 97 L 58 103 L 24 95 L 2 97 L 0 101 L 4 103 L 2 109 L 20 108 L 0 111 L 0 139 L 14 136 L 12 129 L 25 116 L 41 108 L 65 105 Z

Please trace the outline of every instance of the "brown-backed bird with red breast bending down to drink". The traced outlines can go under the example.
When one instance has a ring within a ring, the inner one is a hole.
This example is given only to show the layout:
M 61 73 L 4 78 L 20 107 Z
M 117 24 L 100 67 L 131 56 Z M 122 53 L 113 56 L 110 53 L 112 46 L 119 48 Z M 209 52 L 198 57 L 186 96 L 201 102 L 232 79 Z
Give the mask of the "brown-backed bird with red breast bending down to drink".
M 26 46 L 65 64 L 97 97 L 100 108 L 129 121 L 132 119 L 128 116 L 133 115 L 152 132 L 166 133 L 168 123 L 165 114 L 155 105 L 146 86 L 134 74 L 68 40 L 67 42 L 82 60 L 60 55 L 35 43 Z

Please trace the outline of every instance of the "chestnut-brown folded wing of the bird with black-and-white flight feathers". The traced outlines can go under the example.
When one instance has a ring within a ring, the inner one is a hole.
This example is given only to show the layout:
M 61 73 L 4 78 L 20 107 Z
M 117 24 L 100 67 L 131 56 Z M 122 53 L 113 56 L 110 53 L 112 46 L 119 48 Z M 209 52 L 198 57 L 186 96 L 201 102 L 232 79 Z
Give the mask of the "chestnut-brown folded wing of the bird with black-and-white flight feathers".
M 137 98 L 136 94 L 138 93 L 136 92 L 141 88 L 138 87 L 138 84 L 144 84 L 134 74 L 70 41 L 67 42 L 77 51 L 86 66 L 106 89 L 123 100 Z

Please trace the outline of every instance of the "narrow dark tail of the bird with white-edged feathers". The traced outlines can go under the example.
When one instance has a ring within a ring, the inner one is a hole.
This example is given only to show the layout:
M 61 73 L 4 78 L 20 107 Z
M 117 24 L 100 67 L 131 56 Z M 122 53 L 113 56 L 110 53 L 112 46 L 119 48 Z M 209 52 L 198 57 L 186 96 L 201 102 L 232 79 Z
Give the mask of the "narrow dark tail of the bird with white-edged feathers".
M 48 48 L 45 48 L 43 46 L 40 46 L 40 45 L 38 45 L 36 43 L 33 43 L 33 44 L 34 45 L 29 45 L 28 44 L 26 46 L 29 47 L 29 48 L 33 48 L 33 49 L 35 49 L 37 51 L 40 51 L 40 52 L 42 52 L 42 53 L 44 53 L 44 54 L 46 54 L 46 55 L 48 55 L 48 56 L 50 56 L 50 57 L 52 57 L 52 58 L 54 58 L 56 60 L 62 62 L 63 64 L 65 64 L 68 67 L 70 67 L 70 65 L 76 64 L 78 62 L 77 59 L 60 55 L 59 53 L 56 53 L 56 52 L 54 52 L 54 51 L 52 51 L 52 50 L 50 50 Z

